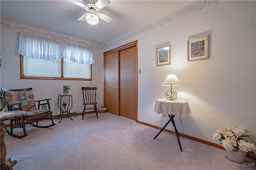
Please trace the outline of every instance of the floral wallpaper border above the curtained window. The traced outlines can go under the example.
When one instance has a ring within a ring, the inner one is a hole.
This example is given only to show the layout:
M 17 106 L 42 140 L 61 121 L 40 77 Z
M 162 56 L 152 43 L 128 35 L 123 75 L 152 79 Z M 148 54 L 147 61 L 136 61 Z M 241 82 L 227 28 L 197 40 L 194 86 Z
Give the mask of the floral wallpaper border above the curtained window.
M 89 43 L 85 42 L 85 41 L 74 40 L 69 37 L 55 35 L 54 33 L 36 31 L 29 27 L 17 26 L 17 25 L 13 25 L 10 23 L 6 23 L 4 21 L 1 21 L 1 27 L 5 27 L 8 29 L 16 29 L 18 31 L 22 31 L 26 35 L 32 35 L 34 37 L 39 37 L 39 38 L 47 39 L 50 41 L 55 41 L 55 42 L 62 43 L 62 44 L 74 45 L 74 46 L 78 46 L 78 47 L 82 47 L 82 48 L 89 47 Z M 101 49 L 101 47 L 96 44 L 92 44 L 92 48 Z

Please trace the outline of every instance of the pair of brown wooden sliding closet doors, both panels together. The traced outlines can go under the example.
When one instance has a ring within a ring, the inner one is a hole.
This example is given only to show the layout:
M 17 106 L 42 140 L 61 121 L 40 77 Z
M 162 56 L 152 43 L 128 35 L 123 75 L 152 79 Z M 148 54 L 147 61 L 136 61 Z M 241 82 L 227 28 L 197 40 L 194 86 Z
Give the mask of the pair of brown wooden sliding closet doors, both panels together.
M 104 107 L 137 121 L 137 41 L 104 53 Z

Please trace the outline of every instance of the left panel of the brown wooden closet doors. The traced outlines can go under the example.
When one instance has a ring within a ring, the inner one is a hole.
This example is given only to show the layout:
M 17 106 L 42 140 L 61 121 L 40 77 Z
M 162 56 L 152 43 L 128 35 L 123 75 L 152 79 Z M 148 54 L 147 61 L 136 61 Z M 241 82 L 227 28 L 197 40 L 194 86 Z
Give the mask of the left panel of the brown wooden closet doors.
M 105 55 L 104 107 L 109 113 L 119 115 L 119 55 L 118 51 Z

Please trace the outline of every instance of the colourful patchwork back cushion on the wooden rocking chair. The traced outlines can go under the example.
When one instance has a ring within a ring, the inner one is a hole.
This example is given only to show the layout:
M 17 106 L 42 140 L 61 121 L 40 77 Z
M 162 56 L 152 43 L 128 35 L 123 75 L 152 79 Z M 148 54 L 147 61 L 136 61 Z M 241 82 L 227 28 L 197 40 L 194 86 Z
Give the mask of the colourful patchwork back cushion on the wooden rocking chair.
M 36 110 L 36 104 L 34 100 L 34 91 L 5 91 L 4 92 L 7 97 L 8 104 L 16 104 L 13 105 L 12 108 L 18 108 L 17 103 L 22 103 L 21 107 L 24 111 L 32 111 Z

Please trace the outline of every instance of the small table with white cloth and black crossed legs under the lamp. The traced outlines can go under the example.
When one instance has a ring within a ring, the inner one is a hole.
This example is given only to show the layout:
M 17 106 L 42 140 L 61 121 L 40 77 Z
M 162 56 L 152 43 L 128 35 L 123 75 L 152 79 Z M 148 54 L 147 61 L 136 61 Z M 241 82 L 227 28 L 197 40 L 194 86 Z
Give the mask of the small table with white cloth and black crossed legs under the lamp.
M 182 147 L 180 144 L 180 134 L 178 133 L 178 130 L 176 129 L 176 125 L 174 122 L 174 116 L 179 116 L 179 117 L 187 117 L 187 115 L 191 114 L 190 108 L 188 106 L 188 102 L 185 100 L 167 100 L 167 99 L 157 99 L 156 100 L 156 105 L 155 105 L 155 111 L 158 114 L 163 114 L 164 117 L 166 115 L 169 116 L 169 121 L 164 125 L 164 127 L 161 129 L 161 131 L 154 137 L 158 137 L 158 135 L 164 130 L 164 128 L 172 122 L 172 125 L 174 126 L 175 133 L 178 139 L 178 143 L 180 145 L 180 151 L 182 151 Z

